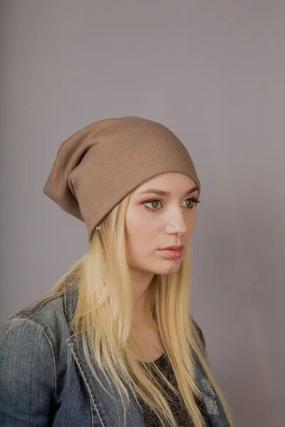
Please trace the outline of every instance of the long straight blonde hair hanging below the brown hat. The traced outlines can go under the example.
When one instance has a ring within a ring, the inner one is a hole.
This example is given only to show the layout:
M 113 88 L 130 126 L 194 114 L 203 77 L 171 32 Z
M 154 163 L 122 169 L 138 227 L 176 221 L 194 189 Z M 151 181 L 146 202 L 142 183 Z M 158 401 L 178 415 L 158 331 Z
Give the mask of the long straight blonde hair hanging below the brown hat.
M 124 413 L 128 408 L 129 395 L 122 378 L 155 411 L 162 426 L 177 427 L 170 406 L 162 395 L 163 389 L 149 367 L 139 362 L 132 350 L 131 344 L 143 354 L 131 333 L 133 288 L 125 250 L 125 215 L 129 199 L 130 195 L 126 196 L 105 216 L 100 223 L 100 235 L 93 233 L 86 254 L 71 266 L 46 296 L 63 295 L 66 280 L 72 285 L 76 279 L 78 302 L 73 330 L 83 339 L 86 362 L 95 378 L 103 386 L 94 369 L 94 364 L 97 364 L 107 380 L 109 376 L 115 384 Z M 233 427 L 227 402 L 209 369 L 207 353 L 189 313 L 190 247 L 191 240 L 177 273 L 154 275 L 147 288 L 144 307 L 147 318 L 150 318 L 160 334 L 165 354 L 175 373 L 178 391 L 155 364 L 151 366 L 176 395 L 180 393 L 195 427 L 205 427 L 195 402 L 196 397 L 202 398 L 195 382 L 197 368 L 194 353 L 197 354 L 224 409 L 229 426 Z

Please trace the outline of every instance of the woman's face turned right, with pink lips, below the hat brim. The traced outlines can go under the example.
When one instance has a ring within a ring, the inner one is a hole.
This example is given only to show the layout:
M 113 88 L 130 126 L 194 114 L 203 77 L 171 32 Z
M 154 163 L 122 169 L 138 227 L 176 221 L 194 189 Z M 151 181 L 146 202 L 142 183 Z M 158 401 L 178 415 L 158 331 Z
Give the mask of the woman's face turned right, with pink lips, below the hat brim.
M 184 256 L 167 258 L 165 246 L 187 243 L 196 223 L 198 190 L 184 174 L 167 172 L 138 186 L 130 196 L 125 221 L 127 257 L 130 269 L 165 275 L 179 270 Z M 155 194 L 150 189 L 169 194 Z M 194 189 L 194 190 L 193 190 Z M 148 190 L 147 192 L 145 192 Z

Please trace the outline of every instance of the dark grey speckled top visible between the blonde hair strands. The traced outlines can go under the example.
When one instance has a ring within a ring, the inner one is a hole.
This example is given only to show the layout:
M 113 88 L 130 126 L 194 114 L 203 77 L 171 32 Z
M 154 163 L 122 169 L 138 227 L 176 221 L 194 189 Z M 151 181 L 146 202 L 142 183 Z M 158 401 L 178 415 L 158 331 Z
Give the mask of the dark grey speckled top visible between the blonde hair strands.
M 165 354 L 162 354 L 158 359 L 155 360 L 155 364 L 157 367 L 159 367 L 160 371 L 167 377 L 168 381 L 170 381 L 170 384 L 172 386 L 175 386 L 177 389 L 177 381 L 175 378 L 174 371 L 172 369 L 172 366 L 170 364 L 169 359 Z M 160 379 L 160 376 L 155 372 L 155 369 L 151 366 L 150 363 L 147 363 L 147 365 L 150 367 L 152 373 L 155 376 L 155 379 L 160 382 L 162 385 L 162 380 Z M 163 385 L 163 388 L 165 389 L 167 386 L 165 384 Z M 170 395 L 171 399 L 169 399 L 166 395 L 164 396 L 167 399 L 167 403 L 170 405 L 172 415 L 175 418 L 175 421 L 177 423 L 177 427 L 194 427 L 194 424 L 192 422 L 192 419 L 187 411 L 187 408 L 185 407 L 185 404 L 183 403 L 182 399 L 178 399 L 175 394 L 172 393 L 172 391 L 167 387 L 167 394 Z M 157 415 L 155 412 L 153 412 L 149 406 L 147 406 L 142 399 L 138 396 L 138 401 L 140 403 L 140 406 L 142 408 L 142 415 L 145 423 L 145 427 L 160 427 L 162 424 L 160 423 L 159 418 L 157 418 Z M 207 427 L 212 427 L 212 423 L 209 420 L 209 417 L 207 415 L 207 410 L 204 407 L 204 404 L 202 401 L 196 400 L 199 409 L 202 413 L 202 416 L 204 417 L 204 421 Z

